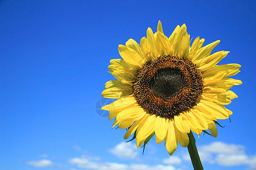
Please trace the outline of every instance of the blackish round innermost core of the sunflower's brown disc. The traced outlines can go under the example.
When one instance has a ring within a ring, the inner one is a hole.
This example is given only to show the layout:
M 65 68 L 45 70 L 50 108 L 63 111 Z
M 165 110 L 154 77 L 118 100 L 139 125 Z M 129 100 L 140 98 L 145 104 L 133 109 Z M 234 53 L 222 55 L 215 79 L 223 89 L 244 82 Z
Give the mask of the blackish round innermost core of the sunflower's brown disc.
M 179 69 L 165 68 L 157 70 L 149 82 L 150 90 L 158 97 L 170 99 L 178 95 L 186 86 L 184 75 Z

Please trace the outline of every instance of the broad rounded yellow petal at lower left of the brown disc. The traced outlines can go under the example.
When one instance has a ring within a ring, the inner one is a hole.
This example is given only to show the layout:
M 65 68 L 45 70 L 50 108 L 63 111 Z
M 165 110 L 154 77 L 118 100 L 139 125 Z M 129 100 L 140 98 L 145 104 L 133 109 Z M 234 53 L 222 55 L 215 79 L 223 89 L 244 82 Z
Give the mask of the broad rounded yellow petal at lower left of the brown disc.
M 127 108 L 117 114 L 118 121 L 137 121 L 140 120 L 146 112 L 139 106 Z

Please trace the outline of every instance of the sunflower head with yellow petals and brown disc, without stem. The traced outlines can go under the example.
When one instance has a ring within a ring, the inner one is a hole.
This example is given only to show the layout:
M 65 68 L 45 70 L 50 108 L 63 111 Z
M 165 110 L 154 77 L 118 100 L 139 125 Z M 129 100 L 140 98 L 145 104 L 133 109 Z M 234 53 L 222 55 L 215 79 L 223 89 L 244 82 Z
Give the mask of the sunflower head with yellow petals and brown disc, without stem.
M 207 129 L 217 137 L 217 119 L 232 114 L 228 105 L 237 95 L 229 89 L 241 80 L 229 78 L 240 72 L 236 63 L 216 65 L 229 52 L 211 54 L 220 42 L 203 47 L 197 37 L 190 46 L 187 27 L 177 25 L 168 38 L 162 23 L 157 32 L 147 29 L 147 37 L 138 44 L 129 39 L 119 45 L 123 59 L 111 59 L 110 73 L 117 80 L 105 84 L 102 96 L 118 99 L 102 109 L 110 111 L 113 127 L 129 128 L 124 136 L 134 133 L 137 147 L 156 136 L 156 143 L 165 142 L 170 155 L 177 142 L 187 147 L 192 130 L 201 134 Z

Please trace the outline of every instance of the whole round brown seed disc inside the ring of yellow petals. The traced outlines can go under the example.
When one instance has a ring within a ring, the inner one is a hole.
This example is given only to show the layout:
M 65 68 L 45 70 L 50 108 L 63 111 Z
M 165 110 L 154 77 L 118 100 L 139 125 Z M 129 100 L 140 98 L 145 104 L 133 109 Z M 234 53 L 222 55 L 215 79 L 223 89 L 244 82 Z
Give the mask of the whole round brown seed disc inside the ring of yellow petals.
M 203 93 L 203 76 L 195 65 L 177 56 L 147 62 L 137 75 L 134 97 L 150 114 L 171 118 L 196 105 Z

